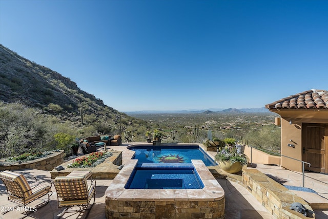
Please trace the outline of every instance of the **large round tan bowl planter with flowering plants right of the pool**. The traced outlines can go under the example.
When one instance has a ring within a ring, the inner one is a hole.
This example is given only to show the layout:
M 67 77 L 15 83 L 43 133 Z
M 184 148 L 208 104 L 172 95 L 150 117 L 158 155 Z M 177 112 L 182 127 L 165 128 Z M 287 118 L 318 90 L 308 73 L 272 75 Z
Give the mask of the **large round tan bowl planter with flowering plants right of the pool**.
M 218 152 L 214 160 L 218 162 L 221 169 L 228 173 L 237 173 L 242 169 L 242 166 L 247 164 L 247 157 L 244 154 L 238 153 L 236 147 L 226 146 Z

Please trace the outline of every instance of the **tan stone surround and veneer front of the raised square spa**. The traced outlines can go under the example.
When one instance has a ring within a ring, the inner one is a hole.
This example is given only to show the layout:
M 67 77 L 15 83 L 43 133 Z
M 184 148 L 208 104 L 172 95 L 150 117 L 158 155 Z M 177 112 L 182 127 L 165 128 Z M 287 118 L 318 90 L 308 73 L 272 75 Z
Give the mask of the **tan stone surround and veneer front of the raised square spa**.
M 106 218 L 224 218 L 224 191 L 201 160 L 192 160 L 203 189 L 125 189 L 129 161 L 105 192 Z

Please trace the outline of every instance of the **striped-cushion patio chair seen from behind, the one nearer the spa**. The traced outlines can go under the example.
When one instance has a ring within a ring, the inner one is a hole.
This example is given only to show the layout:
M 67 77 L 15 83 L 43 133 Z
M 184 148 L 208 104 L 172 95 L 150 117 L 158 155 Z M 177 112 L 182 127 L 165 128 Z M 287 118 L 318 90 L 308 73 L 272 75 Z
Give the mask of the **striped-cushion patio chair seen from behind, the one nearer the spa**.
M 58 208 L 66 207 L 59 218 L 68 212 L 86 210 L 92 197 L 93 204 L 95 203 L 96 181 L 91 180 L 91 185 L 88 186 L 86 175 L 57 176 L 52 184 L 56 188 Z M 82 206 L 83 209 L 69 210 L 73 206 Z M 91 208 L 86 216 L 88 216 Z

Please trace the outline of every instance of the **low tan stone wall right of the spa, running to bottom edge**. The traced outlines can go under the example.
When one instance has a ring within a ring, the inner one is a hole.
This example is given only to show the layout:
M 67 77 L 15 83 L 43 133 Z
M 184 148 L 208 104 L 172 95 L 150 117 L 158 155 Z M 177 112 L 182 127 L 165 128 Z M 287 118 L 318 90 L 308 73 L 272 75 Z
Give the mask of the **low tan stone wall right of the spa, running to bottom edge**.
M 299 202 L 306 207 L 306 209 L 313 211 L 311 206 L 301 197 L 295 195 L 259 170 L 243 169 L 242 183 L 257 201 L 276 218 L 306 218 L 303 214 L 289 209 L 294 202 Z

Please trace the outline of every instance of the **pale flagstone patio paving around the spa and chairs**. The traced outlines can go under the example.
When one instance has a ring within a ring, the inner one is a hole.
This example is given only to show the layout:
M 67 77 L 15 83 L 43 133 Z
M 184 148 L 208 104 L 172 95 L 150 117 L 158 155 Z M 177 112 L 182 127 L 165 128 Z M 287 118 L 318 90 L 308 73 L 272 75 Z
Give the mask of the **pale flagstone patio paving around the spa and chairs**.
M 145 143 L 140 143 L 145 144 Z M 146 143 L 147 144 L 147 143 Z M 131 159 L 134 151 L 128 150 L 126 147 L 128 144 L 123 144 L 120 146 L 111 146 L 111 149 L 116 151 L 122 151 L 122 164 L 124 165 L 128 160 Z M 101 150 L 101 149 L 100 149 Z M 215 153 L 214 153 L 215 155 Z M 117 166 L 116 166 L 117 167 Z M 300 186 L 302 176 L 301 173 L 285 170 L 280 167 L 257 165 L 256 169 L 260 170 L 264 174 L 270 174 L 273 177 L 280 178 L 285 181 L 285 184 Z M 36 170 L 36 169 L 22 169 L 14 170 L 21 172 L 30 176 L 36 176 L 38 180 L 51 180 L 50 171 Z M 237 176 L 238 177 L 238 176 Z M 241 178 L 241 176 L 240 176 Z M 217 181 L 222 186 L 225 198 L 226 198 L 226 218 L 274 218 L 267 209 L 265 209 L 256 198 L 242 185 L 238 183 L 236 178 L 228 177 L 228 180 L 223 178 L 217 178 Z M 1 181 L 0 181 L 1 182 Z M 96 202 L 93 205 L 88 218 L 89 219 L 105 219 L 105 191 L 111 185 L 112 180 L 97 180 L 96 187 Z M 315 201 L 326 201 L 328 194 L 328 175 L 318 174 L 318 173 L 305 173 L 305 187 L 312 188 L 317 191 L 319 196 L 313 197 Z M 51 188 L 55 192 L 54 188 Z M 296 191 L 296 193 L 298 193 Z M 299 193 L 298 193 L 299 194 Z M 299 194 L 300 195 L 300 194 Z M 301 194 L 304 200 L 306 196 L 311 198 L 312 194 Z M 323 200 L 321 200 L 323 198 Z M 309 200 L 309 199 L 308 199 Z M 14 207 L 12 202 L 7 201 L 6 188 L 4 184 L 0 183 L 0 207 Z M 32 206 L 33 207 L 33 206 Z M 61 213 L 64 209 L 57 208 L 57 198 L 53 194 L 50 197 L 50 203 L 43 208 L 38 209 L 36 212 L 32 212 L 30 216 L 26 218 L 57 218 L 57 215 Z M 328 209 L 314 209 L 315 218 L 323 219 L 328 218 Z M 85 218 L 85 211 L 78 213 L 65 214 L 63 218 Z M 2 218 L 20 218 L 25 216 L 23 212 L 11 211 L 4 215 L 0 214 L 0 219 Z

